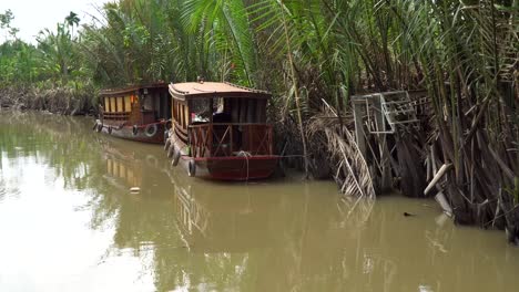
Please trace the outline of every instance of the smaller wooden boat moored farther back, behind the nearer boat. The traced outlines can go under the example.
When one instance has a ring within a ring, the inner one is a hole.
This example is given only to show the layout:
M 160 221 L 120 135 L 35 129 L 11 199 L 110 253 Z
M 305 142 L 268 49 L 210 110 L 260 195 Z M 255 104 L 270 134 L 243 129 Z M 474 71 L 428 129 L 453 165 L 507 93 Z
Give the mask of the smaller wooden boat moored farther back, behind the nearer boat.
M 125 139 L 164 143 L 164 132 L 171 127 L 166 83 L 103 90 L 100 95 L 95 131 Z

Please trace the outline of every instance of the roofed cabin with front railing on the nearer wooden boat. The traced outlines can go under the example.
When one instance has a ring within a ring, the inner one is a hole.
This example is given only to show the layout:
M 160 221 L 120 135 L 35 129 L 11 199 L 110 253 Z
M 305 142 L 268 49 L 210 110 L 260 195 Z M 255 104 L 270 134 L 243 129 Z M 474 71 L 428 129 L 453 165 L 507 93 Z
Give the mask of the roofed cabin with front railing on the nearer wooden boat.
M 170 93 L 174 132 L 192 157 L 272 155 L 268 93 L 212 82 L 173 84 Z

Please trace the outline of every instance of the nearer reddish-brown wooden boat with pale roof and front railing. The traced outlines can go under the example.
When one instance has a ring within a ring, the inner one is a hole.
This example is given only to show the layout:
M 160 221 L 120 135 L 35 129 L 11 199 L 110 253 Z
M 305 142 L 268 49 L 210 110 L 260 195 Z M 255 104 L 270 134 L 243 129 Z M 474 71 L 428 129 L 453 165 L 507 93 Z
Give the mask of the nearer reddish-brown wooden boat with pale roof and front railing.
M 170 84 L 172 128 L 165 143 L 173 165 L 190 176 L 221 180 L 269 177 L 277 165 L 271 94 L 230 83 Z

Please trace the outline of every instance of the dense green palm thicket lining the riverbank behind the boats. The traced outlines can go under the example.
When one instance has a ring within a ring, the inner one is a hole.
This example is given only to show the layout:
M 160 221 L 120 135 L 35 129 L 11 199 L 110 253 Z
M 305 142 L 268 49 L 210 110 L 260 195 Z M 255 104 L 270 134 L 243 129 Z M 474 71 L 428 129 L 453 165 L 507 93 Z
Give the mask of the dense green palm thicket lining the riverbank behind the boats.
M 2 14 L 1 87 L 60 88 L 82 98 L 69 112 L 129 83 L 202 75 L 266 88 L 309 170 L 336 163 L 319 164 L 322 139 L 306 134 L 323 101 L 347 127 L 353 94 L 425 90 L 421 135 L 397 137 L 421 159 L 413 173 L 436 149 L 439 166 L 452 165 L 444 188 L 457 220 L 519 237 L 518 0 L 120 0 L 101 12 L 81 29 L 71 13 L 37 45 Z

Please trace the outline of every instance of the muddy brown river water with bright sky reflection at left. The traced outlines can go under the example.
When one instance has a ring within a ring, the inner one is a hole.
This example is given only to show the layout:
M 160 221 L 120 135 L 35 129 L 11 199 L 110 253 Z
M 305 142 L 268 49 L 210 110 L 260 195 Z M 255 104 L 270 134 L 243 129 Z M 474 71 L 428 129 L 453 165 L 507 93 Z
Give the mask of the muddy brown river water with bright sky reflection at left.
M 0 112 L 0 291 L 519 289 L 519 249 L 434 201 L 352 210 L 334 182 L 297 174 L 193 179 L 161 146 L 92 124 Z

